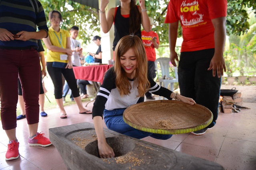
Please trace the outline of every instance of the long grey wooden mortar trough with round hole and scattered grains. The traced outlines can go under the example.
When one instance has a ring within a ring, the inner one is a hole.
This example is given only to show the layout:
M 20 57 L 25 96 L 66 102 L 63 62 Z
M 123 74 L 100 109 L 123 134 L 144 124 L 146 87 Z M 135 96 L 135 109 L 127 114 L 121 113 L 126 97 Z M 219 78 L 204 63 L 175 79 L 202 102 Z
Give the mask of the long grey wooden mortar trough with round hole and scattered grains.
M 92 123 L 49 129 L 68 170 L 224 170 L 217 163 L 104 129 L 114 158 L 99 158 Z

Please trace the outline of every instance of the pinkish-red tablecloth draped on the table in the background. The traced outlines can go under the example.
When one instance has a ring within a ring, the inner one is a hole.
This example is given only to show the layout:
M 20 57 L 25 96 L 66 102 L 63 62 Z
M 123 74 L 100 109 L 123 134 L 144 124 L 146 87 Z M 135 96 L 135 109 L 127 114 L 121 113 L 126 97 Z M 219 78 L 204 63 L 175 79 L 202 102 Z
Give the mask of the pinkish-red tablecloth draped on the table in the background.
M 76 79 L 103 82 L 105 72 L 113 65 L 73 67 Z

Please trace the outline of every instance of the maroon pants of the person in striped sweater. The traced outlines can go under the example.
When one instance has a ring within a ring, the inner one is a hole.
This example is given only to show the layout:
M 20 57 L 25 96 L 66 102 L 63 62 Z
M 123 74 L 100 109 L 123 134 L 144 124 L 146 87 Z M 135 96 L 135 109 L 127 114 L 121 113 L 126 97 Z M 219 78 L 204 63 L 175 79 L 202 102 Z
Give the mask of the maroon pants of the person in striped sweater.
M 4 130 L 17 127 L 18 76 L 28 124 L 39 121 L 40 59 L 36 49 L 0 49 L 1 121 Z

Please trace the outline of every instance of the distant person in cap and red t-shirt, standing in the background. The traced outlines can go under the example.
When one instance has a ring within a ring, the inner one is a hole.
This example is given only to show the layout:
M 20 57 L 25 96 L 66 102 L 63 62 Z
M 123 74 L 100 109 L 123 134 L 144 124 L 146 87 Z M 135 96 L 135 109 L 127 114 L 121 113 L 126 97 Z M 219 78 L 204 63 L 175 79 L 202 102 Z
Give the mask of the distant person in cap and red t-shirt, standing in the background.
M 152 31 L 152 26 L 156 25 L 154 22 L 154 19 L 151 17 L 148 17 L 150 20 L 150 31 L 146 32 L 145 30 L 141 31 L 141 39 L 144 44 L 146 55 L 148 59 L 148 75 L 154 79 L 156 77 L 156 66 L 155 66 L 155 60 L 156 60 L 156 51 L 155 48 L 158 49 L 159 47 L 159 39 L 156 32 Z M 150 92 L 146 92 L 146 98 L 154 100 L 155 97 L 152 96 Z

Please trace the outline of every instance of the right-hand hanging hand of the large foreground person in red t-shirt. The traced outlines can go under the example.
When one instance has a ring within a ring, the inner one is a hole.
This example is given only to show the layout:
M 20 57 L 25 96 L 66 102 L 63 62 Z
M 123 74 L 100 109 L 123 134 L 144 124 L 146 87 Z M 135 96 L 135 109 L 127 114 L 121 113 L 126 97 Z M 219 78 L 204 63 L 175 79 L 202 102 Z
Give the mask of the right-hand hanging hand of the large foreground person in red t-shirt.
M 218 78 L 220 78 L 220 76 L 223 76 L 223 69 L 226 72 L 223 55 L 217 55 L 214 53 L 214 56 L 212 57 L 212 60 L 210 62 L 210 66 L 207 70 L 212 70 L 212 76 L 214 77 L 216 76 L 217 71 Z

